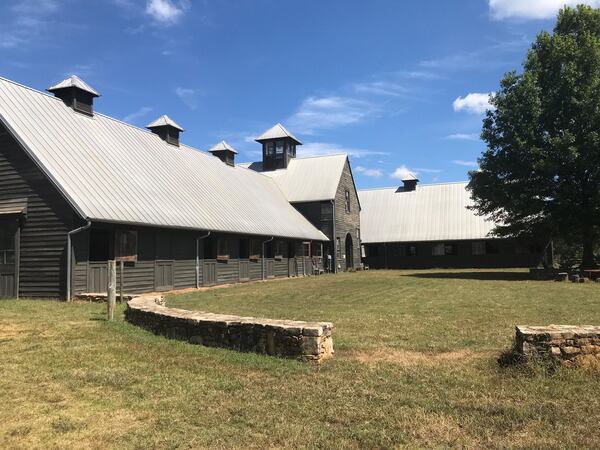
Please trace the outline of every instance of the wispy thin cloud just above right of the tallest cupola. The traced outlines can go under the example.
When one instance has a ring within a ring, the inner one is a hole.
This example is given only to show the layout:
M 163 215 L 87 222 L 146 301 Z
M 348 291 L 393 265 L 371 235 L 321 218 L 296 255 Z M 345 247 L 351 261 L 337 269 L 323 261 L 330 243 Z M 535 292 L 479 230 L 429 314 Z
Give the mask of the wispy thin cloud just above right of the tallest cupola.
M 308 97 L 288 119 L 299 133 L 314 134 L 359 123 L 375 112 L 368 102 L 348 97 Z

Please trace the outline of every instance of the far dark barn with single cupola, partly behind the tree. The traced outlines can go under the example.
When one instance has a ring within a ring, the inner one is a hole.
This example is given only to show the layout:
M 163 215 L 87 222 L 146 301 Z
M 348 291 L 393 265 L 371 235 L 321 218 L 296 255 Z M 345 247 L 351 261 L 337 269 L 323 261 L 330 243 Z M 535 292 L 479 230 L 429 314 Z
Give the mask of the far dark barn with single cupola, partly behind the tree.
M 359 191 L 364 257 L 370 268 L 535 267 L 552 261 L 547 241 L 499 239 L 495 224 L 469 209 L 466 182 Z

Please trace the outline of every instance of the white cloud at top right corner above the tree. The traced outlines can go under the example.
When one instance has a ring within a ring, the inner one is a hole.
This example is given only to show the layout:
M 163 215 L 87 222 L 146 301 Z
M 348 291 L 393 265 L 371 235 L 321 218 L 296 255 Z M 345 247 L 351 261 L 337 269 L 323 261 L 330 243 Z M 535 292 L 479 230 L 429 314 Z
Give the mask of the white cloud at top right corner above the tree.
M 563 6 L 600 6 L 600 0 L 489 0 L 493 19 L 552 19 Z

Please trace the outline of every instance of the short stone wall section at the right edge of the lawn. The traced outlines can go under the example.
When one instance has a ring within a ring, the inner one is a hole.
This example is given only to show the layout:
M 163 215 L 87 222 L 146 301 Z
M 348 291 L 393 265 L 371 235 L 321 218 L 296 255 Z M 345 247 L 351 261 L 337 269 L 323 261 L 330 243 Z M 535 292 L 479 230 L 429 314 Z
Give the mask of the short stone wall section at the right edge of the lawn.
M 600 327 L 520 325 L 516 346 L 526 358 L 552 358 L 566 366 L 600 364 Z

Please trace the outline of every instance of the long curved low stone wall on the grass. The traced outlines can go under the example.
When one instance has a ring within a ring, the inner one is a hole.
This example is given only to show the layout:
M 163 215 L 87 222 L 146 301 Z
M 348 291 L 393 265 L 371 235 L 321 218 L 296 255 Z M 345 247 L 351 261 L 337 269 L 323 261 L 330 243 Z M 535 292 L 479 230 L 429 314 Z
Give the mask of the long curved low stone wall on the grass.
M 160 295 L 141 295 L 127 303 L 127 321 L 155 334 L 209 347 L 265 353 L 303 361 L 333 355 L 333 324 L 269 320 L 167 308 Z

